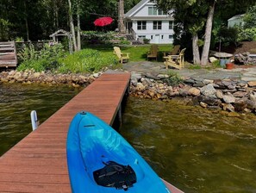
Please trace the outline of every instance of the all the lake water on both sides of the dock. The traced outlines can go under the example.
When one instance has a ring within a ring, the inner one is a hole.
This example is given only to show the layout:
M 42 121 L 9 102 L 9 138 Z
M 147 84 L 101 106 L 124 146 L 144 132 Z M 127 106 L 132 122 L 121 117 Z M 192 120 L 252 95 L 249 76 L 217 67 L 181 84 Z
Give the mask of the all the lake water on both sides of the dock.
M 0 84 L 0 155 L 80 90 Z M 256 192 L 256 116 L 128 97 L 120 133 L 160 177 L 185 192 Z

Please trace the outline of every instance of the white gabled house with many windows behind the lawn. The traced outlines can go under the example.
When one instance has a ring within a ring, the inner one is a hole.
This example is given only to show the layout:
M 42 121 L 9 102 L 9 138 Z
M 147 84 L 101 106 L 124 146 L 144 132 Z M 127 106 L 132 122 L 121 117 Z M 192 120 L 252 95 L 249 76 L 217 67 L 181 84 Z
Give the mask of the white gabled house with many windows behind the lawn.
M 135 40 L 147 38 L 155 44 L 170 44 L 173 41 L 173 17 L 157 9 L 150 0 L 141 0 L 130 9 L 125 14 L 124 22 L 127 33 L 133 34 Z

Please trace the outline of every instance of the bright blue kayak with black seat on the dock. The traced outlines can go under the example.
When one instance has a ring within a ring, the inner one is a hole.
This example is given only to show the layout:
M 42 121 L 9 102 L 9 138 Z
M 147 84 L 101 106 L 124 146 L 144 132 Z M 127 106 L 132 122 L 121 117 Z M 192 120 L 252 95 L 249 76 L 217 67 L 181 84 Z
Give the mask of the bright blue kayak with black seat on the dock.
M 66 142 L 72 193 L 170 193 L 115 129 L 89 112 L 73 118 Z

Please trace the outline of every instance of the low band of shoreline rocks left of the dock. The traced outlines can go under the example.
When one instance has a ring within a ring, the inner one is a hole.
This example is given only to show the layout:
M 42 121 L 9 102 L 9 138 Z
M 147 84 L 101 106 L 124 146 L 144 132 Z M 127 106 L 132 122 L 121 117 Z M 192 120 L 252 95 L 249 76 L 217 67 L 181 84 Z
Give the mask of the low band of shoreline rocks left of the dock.
M 10 71 L 0 72 L 0 83 L 22 83 L 22 84 L 71 84 L 73 87 L 87 86 L 102 72 L 92 75 L 82 74 L 60 74 L 53 72 L 25 72 Z

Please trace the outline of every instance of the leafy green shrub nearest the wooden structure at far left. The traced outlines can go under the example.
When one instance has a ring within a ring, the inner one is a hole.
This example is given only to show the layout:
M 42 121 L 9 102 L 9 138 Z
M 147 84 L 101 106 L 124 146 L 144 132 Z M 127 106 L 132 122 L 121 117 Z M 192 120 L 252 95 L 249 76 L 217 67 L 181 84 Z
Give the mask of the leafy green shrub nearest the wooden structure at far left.
M 28 47 L 23 47 L 18 56 L 22 59 L 18 71 L 34 69 L 35 72 L 41 72 L 56 69 L 59 66 L 58 59 L 64 57 L 65 52 L 61 44 L 53 46 L 45 44 L 41 51 L 35 51 L 33 44 L 30 44 Z

